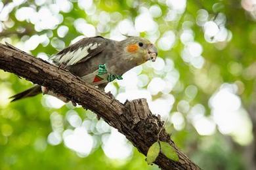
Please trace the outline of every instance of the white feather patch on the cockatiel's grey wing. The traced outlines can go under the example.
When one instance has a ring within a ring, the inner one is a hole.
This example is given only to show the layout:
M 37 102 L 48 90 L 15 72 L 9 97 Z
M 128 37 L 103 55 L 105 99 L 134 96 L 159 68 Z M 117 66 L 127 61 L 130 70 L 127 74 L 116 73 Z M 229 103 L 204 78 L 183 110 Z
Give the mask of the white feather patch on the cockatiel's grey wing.
M 55 61 L 58 64 L 66 63 L 66 66 L 68 65 L 74 65 L 75 63 L 81 61 L 81 59 L 85 58 L 89 52 L 88 50 L 94 50 L 96 49 L 100 44 L 98 43 L 91 43 L 87 46 L 78 48 L 77 50 L 74 50 L 73 52 L 68 52 L 66 54 L 60 54 L 53 56 L 51 59 Z

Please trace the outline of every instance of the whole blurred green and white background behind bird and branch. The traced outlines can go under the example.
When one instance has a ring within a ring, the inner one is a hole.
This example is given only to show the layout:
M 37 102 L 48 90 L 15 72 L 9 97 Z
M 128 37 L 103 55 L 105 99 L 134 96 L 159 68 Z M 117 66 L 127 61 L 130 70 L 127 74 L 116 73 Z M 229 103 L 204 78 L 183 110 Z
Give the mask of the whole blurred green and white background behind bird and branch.
M 0 1 L 0 40 L 48 59 L 83 37 L 150 39 L 148 61 L 106 87 L 146 98 L 202 169 L 256 169 L 256 1 Z M 158 169 L 95 114 L 0 71 L 0 169 Z

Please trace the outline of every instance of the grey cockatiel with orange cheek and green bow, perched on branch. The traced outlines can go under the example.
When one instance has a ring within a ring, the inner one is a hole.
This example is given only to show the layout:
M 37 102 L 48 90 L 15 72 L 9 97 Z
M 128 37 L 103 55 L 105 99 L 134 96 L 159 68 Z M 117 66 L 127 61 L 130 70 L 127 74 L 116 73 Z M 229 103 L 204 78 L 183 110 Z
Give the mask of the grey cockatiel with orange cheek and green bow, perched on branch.
M 142 37 L 127 37 L 113 41 L 104 37 L 88 37 L 68 46 L 50 59 L 54 64 L 68 69 L 85 82 L 104 89 L 108 82 L 122 79 L 121 75 L 148 60 L 155 61 L 157 48 Z M 12 101 L 32 97 L 39 93 L 54 95 L 65 101 L 61 95 L 49 92 L 39 85 L 12 96 Z

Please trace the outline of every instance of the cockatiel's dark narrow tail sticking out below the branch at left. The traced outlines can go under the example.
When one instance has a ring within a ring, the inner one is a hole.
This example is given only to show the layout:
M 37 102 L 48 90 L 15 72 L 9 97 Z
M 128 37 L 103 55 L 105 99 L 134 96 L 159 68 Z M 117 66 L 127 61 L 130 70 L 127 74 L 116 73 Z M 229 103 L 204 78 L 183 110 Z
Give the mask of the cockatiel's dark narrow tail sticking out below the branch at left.
M 10 97 L 10 99 L 12 99 L 12 101 L 16 101 L 16 100 L 19 100 L 19 99 L 24 99 L 26 97 L 35 96 L 35 95 L 37 95 L 37 94 L 39 94 L 41 92 L 42 92 L 41 86 L 35 85 L 32 88 L 30 88 L 28 90 L 25 90 L 24 92 L 21 92 L 21 93 L 18 93 L 16 95 L 13 95 L 12 97 Z

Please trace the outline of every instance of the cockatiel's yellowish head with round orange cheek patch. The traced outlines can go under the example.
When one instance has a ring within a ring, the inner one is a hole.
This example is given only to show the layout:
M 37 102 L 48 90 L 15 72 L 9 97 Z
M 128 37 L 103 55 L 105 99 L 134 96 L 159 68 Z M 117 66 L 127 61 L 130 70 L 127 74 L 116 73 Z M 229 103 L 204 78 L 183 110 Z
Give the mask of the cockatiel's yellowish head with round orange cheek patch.
M 127 59 L 140 65 L 148 60 L 156 61 L 158 50 L 154 44 L 142 37 L 128 37 L 123 42 Z

